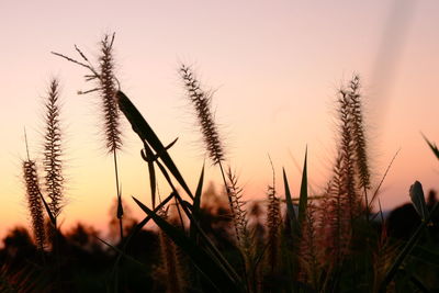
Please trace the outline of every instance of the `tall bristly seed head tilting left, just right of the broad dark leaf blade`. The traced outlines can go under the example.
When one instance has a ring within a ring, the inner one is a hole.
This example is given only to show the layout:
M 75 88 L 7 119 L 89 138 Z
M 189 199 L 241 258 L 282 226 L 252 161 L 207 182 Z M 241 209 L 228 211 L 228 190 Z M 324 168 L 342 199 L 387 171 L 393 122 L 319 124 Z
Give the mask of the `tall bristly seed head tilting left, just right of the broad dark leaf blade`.
M 195 78 L 190 67 L 181 65 L 179 74 L 184 82 L 188 98 L 195 109 L 198 123 L 203 134 L 209 157 L 214 165 L 219 164 L 224 160 L 224 149 L 211 112 L 212 94 L 200 88 L 200 81 Z

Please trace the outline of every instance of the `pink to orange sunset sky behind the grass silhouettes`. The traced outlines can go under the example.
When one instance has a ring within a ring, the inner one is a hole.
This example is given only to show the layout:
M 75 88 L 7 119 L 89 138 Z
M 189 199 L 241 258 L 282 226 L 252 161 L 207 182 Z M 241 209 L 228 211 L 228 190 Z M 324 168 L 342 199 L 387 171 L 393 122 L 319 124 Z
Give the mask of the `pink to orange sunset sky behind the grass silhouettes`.
M 384 209 L 408 200 L 419 180 L 438 188 L 438 161 L 423 132 L 439 142 L 439 38 L 437 1 L 9 1 L 0 2 L 0 235 L 29 225 L 21 164 L 26 127 L 31 157 L 42 158 L 44 99 L 59 79 L 66 177 L 63 228 L 80 221 L 104 228 L 114 202 L 111 156 L 104 149 L 99 97 L 87 71 L 50 54 L 91 59 L 104 34 L 115 32 L 116 75 L 171 149 L 195 189 L 204 147 L 178 68 L 194 68 L 219 125 L 227 164 L 246 200 L 266 196 L 272 182 L 282 195 L 285 168 L 299 193 L 305 148 L 309 190 L 318 194 L 336 154 L 336 93 L 361 77 L 374 185 L 399 150 L 380 193 Z M 125 122 L 119 155 L 122 192 L 149 204 L 142 145 Z M 207 181 L 218 170 L 207 161 Z M 160 193 L 168 192 L 160 183 Z

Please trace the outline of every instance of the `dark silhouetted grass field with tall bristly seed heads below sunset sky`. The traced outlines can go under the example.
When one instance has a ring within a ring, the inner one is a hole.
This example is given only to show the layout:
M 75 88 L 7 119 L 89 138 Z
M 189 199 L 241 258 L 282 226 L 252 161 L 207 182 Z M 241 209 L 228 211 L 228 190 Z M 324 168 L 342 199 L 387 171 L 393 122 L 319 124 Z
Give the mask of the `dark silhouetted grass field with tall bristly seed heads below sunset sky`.
M 80 94 L 98 94 L 102 101 L 101 133 L 114 161 L 111 184 L 115 185 L 117 243 L 111 245 L 81 224 L 68 233 L 59 228 L 58 217 L 67 201 L 63 117 L 54 79 L 45 104 L 43 161 L 36 162 L 27 154 L 22 162 L 32 223 L 29 232 L 18 227 L 3 239 L 2 292 L 439 290 L 438 204 L 434 198 L 425 200 L 423 185 L 416 181 L 409 191 L 413 230 L 407 227 L 402 237 L 392 229 L 403 225 L 399 219 L 392 227 L 384 219 L 378 194 L 387 172 L 372 184 L 358 75 L 335 94 L 337 157 L 326 190 L 308 194 L 305 151 L 302 178 L 294 179 L 301 180 L 297 195 L 290 190 L 285 170 L 277 172 L 284 166 L 273 166 L 270 159 L 272 184 L 267 187 L 267 199 L 250 203 L 243 200 L 238 177 L 224 155 L 227 146 L 211 109 L 213 92 L 202 88 L 196 72 L 184 64 L 179 67 L 205 146 L 205 165 L 221 173 L 219 192 L 206 184 L 204 166 L 196 174 L 198 185 L 188 185 L 187 174 L 171 156 L 177 139 L 162 142 L 123 92 L 114 70 L 114 34 L 105 35 L 100 44 L 95 65 L 77 47 L 78 59 L 54 55 L 82 67 L 86 81 L 94 82 L 94 88 Z M 130 123 L 144 145 L 138 159 L 148 170 L 150 206 L 122 192 L 117 166 L 123 144 L 121 120 Z M 436 145 L 427 138 L 426 143 L 439 159 Z M 42 174 L 36 164 L 44 167 Z M 169 194 L 160 196 L 158 178 L 165 180 Z M 275 180 L 282 181 L 283 190 L 275 189 Z M 144 211 L 143 221 L 126 222 L 124 203 L 128 201 Z M 157 230 L 145 229 L 148 222 L 154 222 Z

